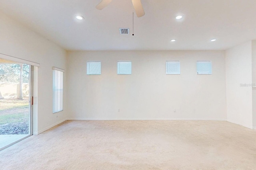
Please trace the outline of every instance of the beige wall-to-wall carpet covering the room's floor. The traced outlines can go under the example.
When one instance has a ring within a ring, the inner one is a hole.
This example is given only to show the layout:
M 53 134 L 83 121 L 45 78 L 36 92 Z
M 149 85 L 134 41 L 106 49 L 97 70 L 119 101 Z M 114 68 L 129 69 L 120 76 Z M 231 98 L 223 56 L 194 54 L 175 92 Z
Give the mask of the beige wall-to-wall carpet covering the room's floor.
M 66 121 L 0 151 L 0 170 L 256 169 L 256 130 L 226 121 Z

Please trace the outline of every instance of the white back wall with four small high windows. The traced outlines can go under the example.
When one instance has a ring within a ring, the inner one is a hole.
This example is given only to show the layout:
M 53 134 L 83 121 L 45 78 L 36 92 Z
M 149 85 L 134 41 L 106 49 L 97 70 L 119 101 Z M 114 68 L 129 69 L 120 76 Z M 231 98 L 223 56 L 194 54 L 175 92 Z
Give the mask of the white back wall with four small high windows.
M 118 60 L 132 61 L 132 75 L 117 75 Z M 172 60 L 180 75 L 166 75 Z M 197 75 L 197 60 L 212 60 L 212 75 Z M 102 75 L 86 75 L 87 61 L 101 61 Z M 226 120 L 225 52 L 68 52 L 68 97 L 71 119 Z

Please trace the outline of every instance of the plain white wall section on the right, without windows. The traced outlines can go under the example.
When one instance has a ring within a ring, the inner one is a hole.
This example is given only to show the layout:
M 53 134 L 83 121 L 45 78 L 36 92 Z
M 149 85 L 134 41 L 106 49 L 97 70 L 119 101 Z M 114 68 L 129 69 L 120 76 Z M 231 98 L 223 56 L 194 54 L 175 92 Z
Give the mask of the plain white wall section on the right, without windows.
M 251 84 L 252 41 L 248 41 L 226 51 L 226 102 L 227 120 L 249 128 L 252 128 Z

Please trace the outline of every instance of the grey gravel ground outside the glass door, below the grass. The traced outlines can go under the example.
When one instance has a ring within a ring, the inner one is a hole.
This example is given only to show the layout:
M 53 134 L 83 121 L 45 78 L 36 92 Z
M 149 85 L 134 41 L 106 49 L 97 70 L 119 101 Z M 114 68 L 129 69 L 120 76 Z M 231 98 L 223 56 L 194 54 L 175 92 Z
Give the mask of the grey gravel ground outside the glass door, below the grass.
M 0 125 L 0 135 L 25 135 L 28 134 L 28 123 L 7 123 Z

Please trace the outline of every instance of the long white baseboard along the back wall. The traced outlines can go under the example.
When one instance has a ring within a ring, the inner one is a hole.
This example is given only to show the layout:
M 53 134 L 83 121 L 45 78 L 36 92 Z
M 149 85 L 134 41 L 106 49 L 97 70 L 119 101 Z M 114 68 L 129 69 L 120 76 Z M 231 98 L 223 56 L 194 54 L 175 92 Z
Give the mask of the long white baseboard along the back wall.
M 226 119 L 207 119 L 207 118 L 67 118 L 67 120 L 198 120 L 198 121 L 226 121 Z

